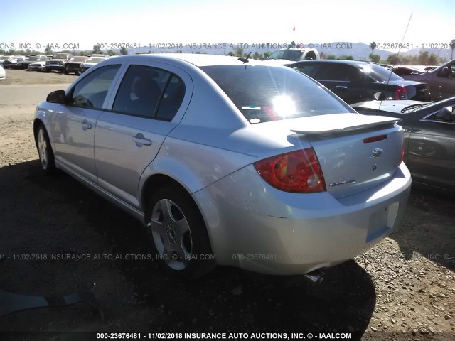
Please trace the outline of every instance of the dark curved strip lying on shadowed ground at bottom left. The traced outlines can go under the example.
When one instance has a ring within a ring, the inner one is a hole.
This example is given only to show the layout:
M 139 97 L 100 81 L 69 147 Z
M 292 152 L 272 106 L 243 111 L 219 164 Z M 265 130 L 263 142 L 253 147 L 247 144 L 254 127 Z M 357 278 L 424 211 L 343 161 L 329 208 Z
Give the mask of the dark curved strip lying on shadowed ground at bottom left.
M 37 308 L 65 308 L 77 303 L 87 303 L 92 309 L 97 310 L 100 318 L 104 320 L 105 316 L 95 296 L 88 291 L 77 291 L 66 296 L 29 296 L 18 293 L 9 293 L 0 290 L 0 318 L 6 315 L 18 313 L 23 310 Z

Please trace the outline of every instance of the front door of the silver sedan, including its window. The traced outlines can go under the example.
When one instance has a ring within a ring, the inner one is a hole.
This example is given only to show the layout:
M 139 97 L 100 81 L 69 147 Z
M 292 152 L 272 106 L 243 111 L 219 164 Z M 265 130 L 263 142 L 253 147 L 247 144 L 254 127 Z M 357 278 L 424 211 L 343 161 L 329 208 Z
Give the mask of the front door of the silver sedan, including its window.
M 95 124 L 107 101 L 120 65 L 107 65 L 91 72 L 67 92 L 68 104 L 58 104 L 51 118 L 55 158 L 69 171 L 97 182 L 93 141 Z

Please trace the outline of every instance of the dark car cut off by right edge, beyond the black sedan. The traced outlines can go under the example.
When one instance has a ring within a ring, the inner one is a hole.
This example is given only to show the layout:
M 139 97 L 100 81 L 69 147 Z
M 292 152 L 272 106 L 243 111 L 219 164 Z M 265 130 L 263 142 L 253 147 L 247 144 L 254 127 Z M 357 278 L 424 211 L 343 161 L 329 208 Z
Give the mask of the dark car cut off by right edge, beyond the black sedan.
M 429 85 L 433 101 L 455 96 L 455 59 L 428 72 L 403 75 L 405 80 L 416 80 Z

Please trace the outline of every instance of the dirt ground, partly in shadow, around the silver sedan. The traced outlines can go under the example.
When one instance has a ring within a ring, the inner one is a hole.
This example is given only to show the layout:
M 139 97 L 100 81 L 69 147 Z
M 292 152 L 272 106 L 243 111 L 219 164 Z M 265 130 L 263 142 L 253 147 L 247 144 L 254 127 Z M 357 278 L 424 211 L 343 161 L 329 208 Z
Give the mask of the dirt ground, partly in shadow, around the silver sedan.
M 453 197 L 413 190 L 390 238 L 328 270 L 317 286 L 231 268 L 176 282 L 156 262 L 127 257 L 149 254 L 139 222 L 68 175 L 41 173 L 31 131 L 35 104 L 75 77 L 21 70 L 7 70 L 6 77 L 0 81 L 0 290 L 46 297 L 90 291 L 104 320 L 83 303 L 28 310 L 0 318 L 0 340 L 95 340 L 94 332 L 455 339 Z M 50 260 L 51 254 L 91 259 Z

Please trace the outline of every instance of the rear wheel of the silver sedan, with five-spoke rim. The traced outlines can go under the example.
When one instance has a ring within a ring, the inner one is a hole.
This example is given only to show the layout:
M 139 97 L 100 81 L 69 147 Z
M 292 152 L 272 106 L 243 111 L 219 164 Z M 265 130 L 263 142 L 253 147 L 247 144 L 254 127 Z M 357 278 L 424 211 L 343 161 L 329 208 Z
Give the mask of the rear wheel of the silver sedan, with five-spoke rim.
M 185 190 L 176 186 L 157 190 L 149 201 L 147 221 L 156 259 L 171 275 L 197 278 L 213 269 L 203 217 Z

